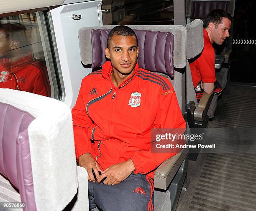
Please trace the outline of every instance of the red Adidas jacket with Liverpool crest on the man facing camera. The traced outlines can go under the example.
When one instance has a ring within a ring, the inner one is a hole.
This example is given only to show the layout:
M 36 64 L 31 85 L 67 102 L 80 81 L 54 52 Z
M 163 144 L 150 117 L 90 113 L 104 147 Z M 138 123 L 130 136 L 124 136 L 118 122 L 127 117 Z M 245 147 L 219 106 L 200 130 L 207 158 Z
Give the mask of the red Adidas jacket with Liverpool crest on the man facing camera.
M 174 89 L 138 63 L 116 88 L 112 70 L 108 61 L 82 80 L 72 109 L 77 159 L 91 153 L 104 170 L 131 158 L 134 173 L 153 178 L 153 170 L 176 153 L 151 153 L 151 129 L 186 128 Z

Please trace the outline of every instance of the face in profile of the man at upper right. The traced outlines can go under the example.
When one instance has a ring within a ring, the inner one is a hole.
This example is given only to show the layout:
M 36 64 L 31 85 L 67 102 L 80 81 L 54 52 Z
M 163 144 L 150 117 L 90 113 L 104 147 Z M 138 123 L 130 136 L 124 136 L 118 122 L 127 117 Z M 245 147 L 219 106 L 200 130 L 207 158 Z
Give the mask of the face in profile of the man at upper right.
M 228 18 L 223 18 L 217 28 L 212 28 L 212 41 L 218 45 L 222 45 L 226 38 L 229 37 L 228 30 L 230 30 L 231 21 Z

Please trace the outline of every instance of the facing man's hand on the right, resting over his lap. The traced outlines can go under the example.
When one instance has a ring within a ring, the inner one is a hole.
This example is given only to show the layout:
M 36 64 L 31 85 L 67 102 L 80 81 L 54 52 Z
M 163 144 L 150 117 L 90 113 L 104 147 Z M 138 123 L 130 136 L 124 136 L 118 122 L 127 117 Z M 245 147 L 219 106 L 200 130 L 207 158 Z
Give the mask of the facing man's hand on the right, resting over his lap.
M 109 168 L 106 168 L 101 172 L 100 177 L 97 179 L 97 182 L 100 183 L 102 179 L 104 184 L 115 185 L 125 180 L 130 174 L 135 170 L 133 161 L 129 159 L 128 161 L 115 164 Z

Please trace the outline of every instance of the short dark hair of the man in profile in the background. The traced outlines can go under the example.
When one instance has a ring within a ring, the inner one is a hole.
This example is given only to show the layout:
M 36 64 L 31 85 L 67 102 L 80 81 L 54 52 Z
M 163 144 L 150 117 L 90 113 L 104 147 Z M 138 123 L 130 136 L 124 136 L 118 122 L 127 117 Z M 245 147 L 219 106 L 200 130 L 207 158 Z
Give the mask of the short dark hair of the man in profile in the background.
M 231 15 L 225 10 L 212 10 L 204 20 L 204 28 L 207 28 L 211 22 L 214 23 L 215 28 L 217 28 L 218 25 L 222 23 L 223 18 L 228 18 L 230 21 L 232 20 Z

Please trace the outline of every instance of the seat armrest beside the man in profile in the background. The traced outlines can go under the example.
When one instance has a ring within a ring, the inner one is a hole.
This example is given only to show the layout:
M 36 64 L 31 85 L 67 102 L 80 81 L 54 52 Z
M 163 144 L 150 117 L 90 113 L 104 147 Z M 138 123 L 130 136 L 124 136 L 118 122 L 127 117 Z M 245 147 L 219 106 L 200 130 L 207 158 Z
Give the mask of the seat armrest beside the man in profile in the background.
M 194 119 L 195 121 L 204 121 L 207 109 L 212 101 L 213 94 L 203 93 L 198 106 L 195 108 Z

